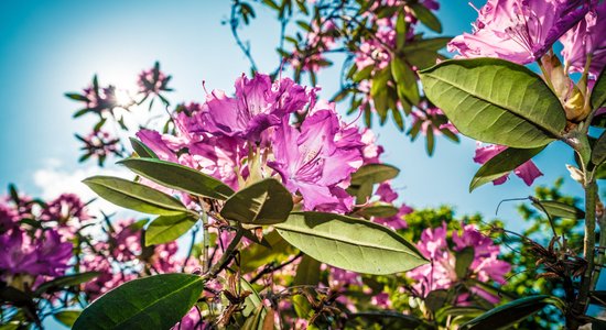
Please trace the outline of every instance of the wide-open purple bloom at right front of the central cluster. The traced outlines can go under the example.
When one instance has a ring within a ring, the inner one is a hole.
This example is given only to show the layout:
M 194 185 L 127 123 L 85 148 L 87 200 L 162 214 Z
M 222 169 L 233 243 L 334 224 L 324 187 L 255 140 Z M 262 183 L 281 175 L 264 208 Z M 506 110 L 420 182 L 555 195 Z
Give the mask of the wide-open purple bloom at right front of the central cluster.
M 337 144 L 338 118 L 331 110 L 315 111 L 297 130 L 288 122 L 275 131 L 275 161 L 268 163 L 292 193 L 303 197 L 305 210 L 320 205 L 339 205 L 337 185 L 361 166 L 358 145 Z M 344 193 L 344 191 L 343 191 Z

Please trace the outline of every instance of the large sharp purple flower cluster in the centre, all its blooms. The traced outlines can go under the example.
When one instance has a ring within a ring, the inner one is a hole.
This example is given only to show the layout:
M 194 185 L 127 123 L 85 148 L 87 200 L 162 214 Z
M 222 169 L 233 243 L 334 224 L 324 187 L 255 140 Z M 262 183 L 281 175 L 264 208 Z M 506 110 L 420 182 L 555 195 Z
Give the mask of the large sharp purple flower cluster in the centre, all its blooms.
M 176 134 L 142 130 L 137 135 L 162 160 L 234 188 L 279 177 L 305 210 L 346 212 L 354 199 L 345 188 L 364 163 L 367 143 L 334 105 L 316 102 L 315 91 L 289 78 L 272 82 L 267 75 L 242 76 L 234 97 L 213 90 L 202 106 L 178 112 Z M 292 113 L 302 120 L 292 123 Z

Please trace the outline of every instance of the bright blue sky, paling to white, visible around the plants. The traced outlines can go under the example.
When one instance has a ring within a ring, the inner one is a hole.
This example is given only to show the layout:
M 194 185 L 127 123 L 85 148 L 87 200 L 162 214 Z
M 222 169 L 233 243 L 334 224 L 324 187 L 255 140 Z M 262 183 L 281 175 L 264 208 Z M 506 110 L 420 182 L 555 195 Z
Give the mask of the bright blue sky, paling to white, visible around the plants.
M 445 35 L 470 29 L 475 11 L 465 0 L 441 1 Z M 474 1 L 478 7 L 484 1 Z M 221 20 L 230 1 L 1 1 L 0 2 L 0 187 L 15 183 L 32 195 L 51 196 L 64 189 L 84 189 L 72 174 L 96 173 L 94 164 L 78 164 L 75 132 L 86 132 L 87 120 L 71 118 L 77 105 L 65 91 L 77 91 L 97 73 L 101 84 L 132 84 L 143 68 L 160 61 L 173 75 L 171 99 L 202 101 L 202 80 L 208 88 L 232 90 L 236 77 L 249 72 Z M 272 70 L 278 25 L 267 12 L 242 32 L 252 42 L 260 70 Z M 337 70 L 320 74 L 325 97 L 337 86 Z M 345 109 L 342 109 L 345 110 Z M 443 204 L 459 213 L 476 211 L 493 217 L 505 198 L 532 195 L 532 188 L 512 177 L 504 186 L 467 190 L 478 166 L 475 142 L 453 144 L 439 139 L 428 157 L 423 141 L 411 143 L 392 124 L 376 130 L 387 150 L 386 162 L 402 172 L 396 180 L 402 200 L 414 207 Z M 537 184 L 566 177 L 564 191 L 580 195 L 563 166 L 572 153 L 551 145 L 537 157 L 545 174 Z M 48 178 L 51 177 L 51 178 Z M 42 187 L 41 187 L 42 185 Z M 76 188 L 74 188 L 76 187 Z M 515 204 L 499 218 L 519 229 Z

